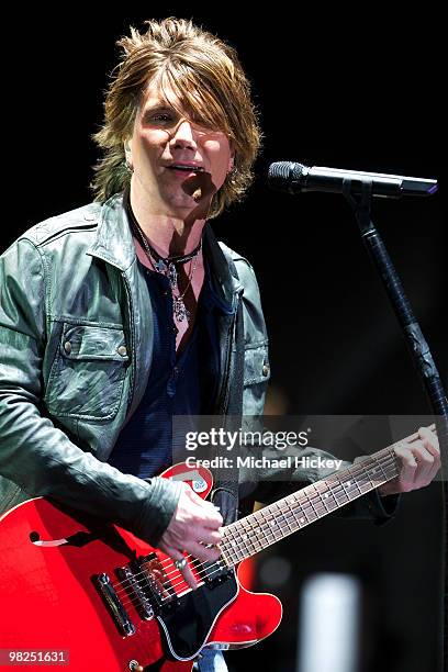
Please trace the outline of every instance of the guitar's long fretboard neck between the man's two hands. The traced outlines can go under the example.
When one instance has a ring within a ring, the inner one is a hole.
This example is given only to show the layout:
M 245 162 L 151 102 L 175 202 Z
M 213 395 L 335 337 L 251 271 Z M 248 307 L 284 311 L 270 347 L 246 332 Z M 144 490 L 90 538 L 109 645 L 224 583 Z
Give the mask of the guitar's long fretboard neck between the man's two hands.
M 407 437 L 415 439 L 418 435 Z M 222 555 L 228 567 L 323 518 L 399 475 L 394 446 L 332 473 L 224 528 Z

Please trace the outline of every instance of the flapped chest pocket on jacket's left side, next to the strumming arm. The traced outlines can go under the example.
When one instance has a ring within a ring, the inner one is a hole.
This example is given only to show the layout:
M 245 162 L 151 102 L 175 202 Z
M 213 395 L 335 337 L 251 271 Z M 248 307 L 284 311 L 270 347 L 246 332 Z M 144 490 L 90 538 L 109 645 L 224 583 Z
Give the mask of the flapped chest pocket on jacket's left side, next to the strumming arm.
M 49 413 L 80 419 L 113 418 L 128 360 L 123 329 L 64 323 L 44 397 Z

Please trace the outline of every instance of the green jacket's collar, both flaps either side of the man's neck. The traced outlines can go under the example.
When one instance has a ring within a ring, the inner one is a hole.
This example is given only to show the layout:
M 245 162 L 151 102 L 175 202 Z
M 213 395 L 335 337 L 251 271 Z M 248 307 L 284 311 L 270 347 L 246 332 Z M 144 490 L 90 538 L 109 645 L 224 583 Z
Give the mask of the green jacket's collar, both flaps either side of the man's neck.
M 232 257 L 224 254 L 210 223 L 204 228 L 203 249 L 215 280 L 215 289 L 225 301 L 232 301 L 234 294 L 242 292 L 243 285 Z M 123 272 L 135 262 L 135 246 L 123 208 L 123 194 L 114 194 L 101 206 L 97 238 L 87 254 L 108 261 Z

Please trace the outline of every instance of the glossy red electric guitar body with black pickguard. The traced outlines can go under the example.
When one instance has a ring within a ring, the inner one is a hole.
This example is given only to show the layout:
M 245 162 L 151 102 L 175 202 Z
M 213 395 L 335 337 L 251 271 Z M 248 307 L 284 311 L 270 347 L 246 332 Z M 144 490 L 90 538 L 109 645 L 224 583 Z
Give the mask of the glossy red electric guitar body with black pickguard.
M 278 598 L 233 570 L 190 560 L 202 585 L 189 591 L 160 551 L 43 497 L 3 516 L 0 544 L 0 648 L 67 651 L 77 672 L 190 671 L 203 646 L 250 646 L 281 620 Z

